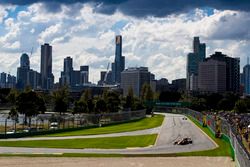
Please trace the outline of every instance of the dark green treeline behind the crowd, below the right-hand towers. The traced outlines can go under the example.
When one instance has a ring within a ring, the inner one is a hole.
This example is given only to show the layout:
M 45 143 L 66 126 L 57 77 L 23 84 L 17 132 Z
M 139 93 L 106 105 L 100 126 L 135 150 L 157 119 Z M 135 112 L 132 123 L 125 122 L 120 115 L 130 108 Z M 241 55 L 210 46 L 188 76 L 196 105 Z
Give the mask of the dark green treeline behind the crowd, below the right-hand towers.
M 241 99 L 234 93 L 194 94 L 163 91 L 159 93 L 160 102 L 189 102 L 190 108 L 196 111 L 231 111 L 247 113 L 250 110 L 250 99 Z

